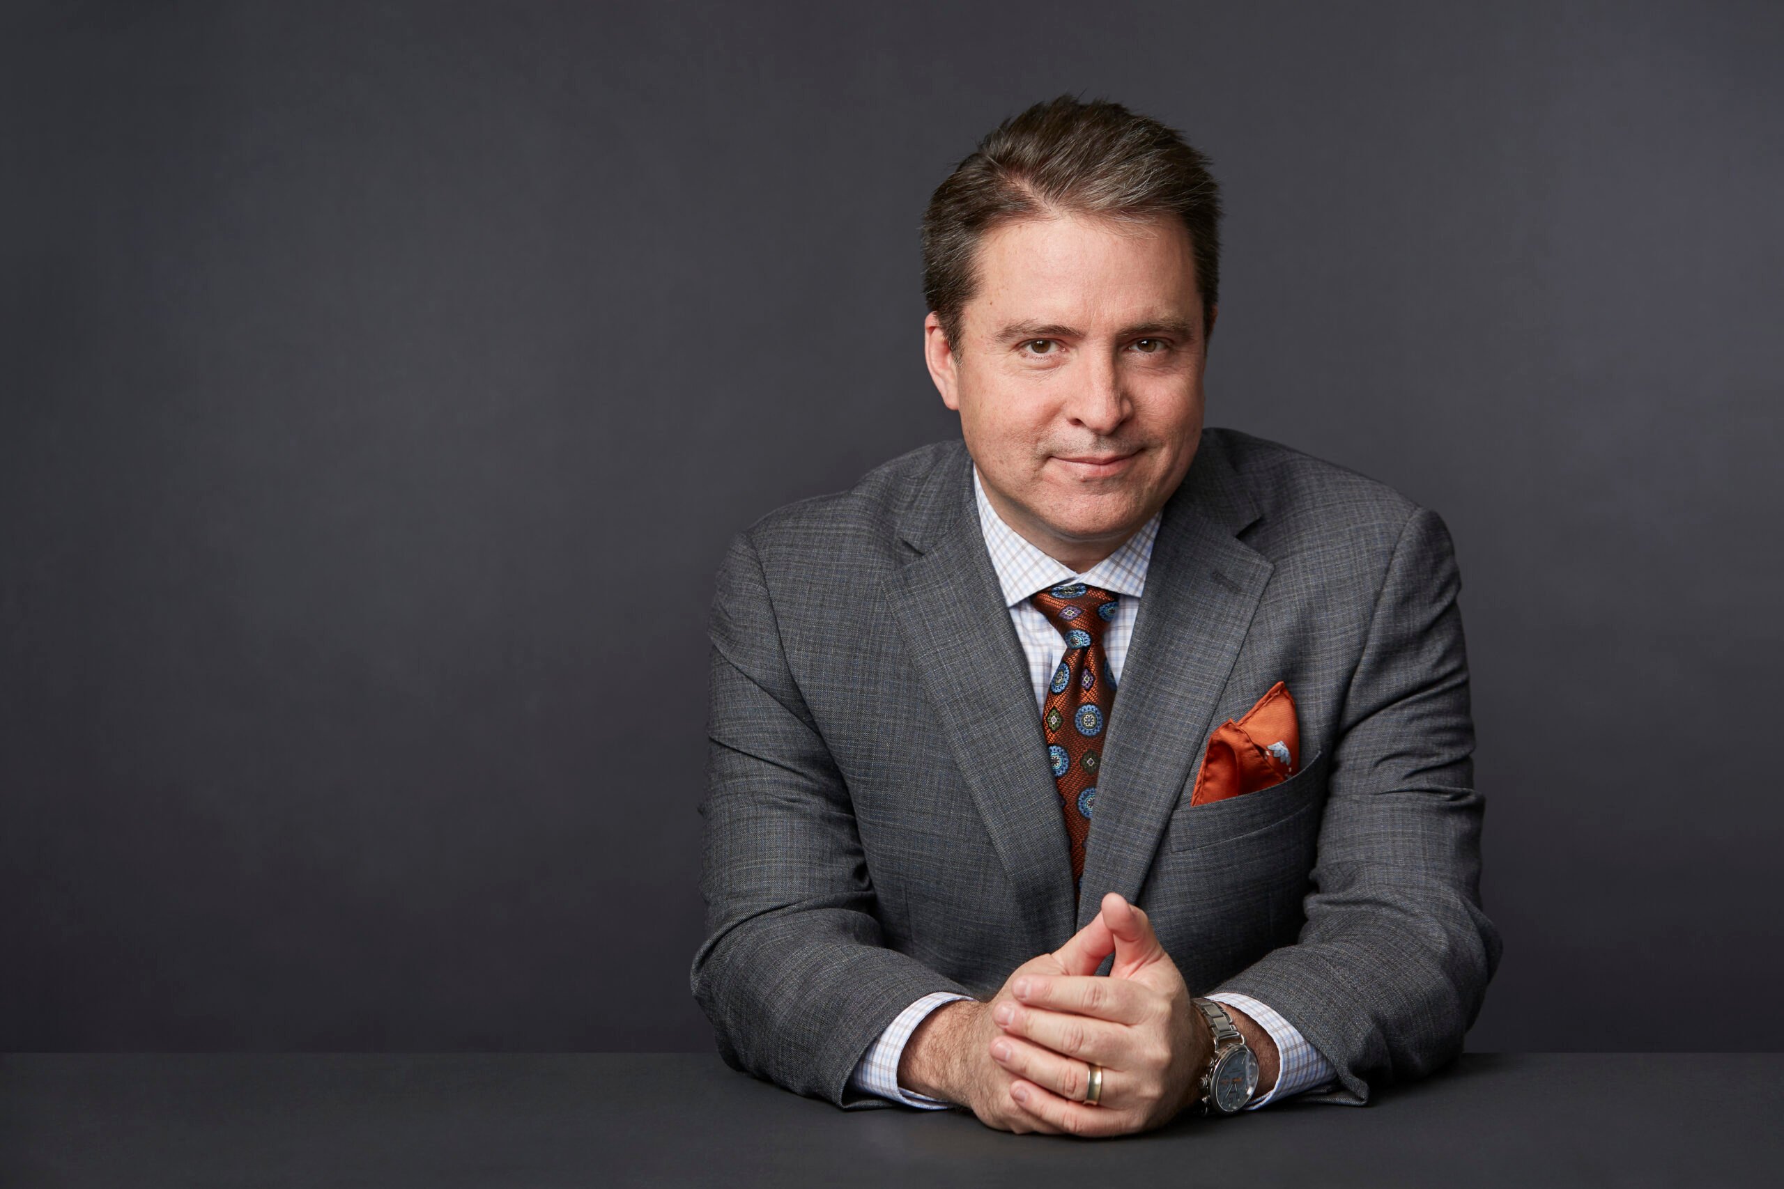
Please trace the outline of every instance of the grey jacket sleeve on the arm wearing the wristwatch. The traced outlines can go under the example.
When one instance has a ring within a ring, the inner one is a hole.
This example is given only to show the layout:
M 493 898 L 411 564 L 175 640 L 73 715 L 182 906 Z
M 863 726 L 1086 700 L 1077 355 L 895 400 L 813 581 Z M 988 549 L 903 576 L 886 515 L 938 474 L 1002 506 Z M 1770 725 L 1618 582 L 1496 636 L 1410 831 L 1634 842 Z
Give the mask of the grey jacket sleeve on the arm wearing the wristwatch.
M 1449 529 L 1416 508 L 1340 711 L 1306 925 L 1218 988 L 1270 1004 L 1331 1061 L 1338 1087 L 1309 1102 L 1363 1105 L 1452 1061 L 1499 966 L 1459 590 Z

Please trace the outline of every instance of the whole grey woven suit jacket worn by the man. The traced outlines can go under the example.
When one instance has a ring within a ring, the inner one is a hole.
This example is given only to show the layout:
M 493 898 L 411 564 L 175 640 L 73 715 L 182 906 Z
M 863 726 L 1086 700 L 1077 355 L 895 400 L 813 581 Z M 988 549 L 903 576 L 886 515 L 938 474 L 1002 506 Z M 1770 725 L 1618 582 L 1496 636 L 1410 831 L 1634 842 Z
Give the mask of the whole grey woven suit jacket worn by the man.
M 929 991 L 988 998 L 1108 891 L 1192 993 L 1301 1029 L 1363 1103 L 1461 1052 L 1481 911 L 1449 531 L 1392 488 L 1206 430 L 1165 504 L 1104 734 L 1083 898 L 963 442 L 733 538 L 712 603 L 706 936 L 690 984 L 733 1068 L 842 1107 Z M 1286 681 L 1302 768 L 1190 806 L 1213 731 Z M 1104 963 L 1104 972 L 1108 963 Z

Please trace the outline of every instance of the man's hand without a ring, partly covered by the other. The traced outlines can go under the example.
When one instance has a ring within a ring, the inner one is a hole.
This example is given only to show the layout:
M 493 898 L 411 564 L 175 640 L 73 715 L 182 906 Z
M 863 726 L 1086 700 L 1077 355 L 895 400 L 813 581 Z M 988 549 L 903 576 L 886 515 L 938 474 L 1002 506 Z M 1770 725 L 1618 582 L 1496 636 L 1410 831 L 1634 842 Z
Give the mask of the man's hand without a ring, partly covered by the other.
M 1103 923 L 1103 913 L 1097 913 L 1058 950 L 1031 957 L 1012 970 L 988 1002 L 942 1004 L 924 1016 L 904 1043 L 897 1066 L 899 1086 L 970 1107 L 981 1123 L 1001 1132 L 1060 1134 L 1060 1128 L 1012 1103 L 1010 1082 L 1015 1075 L 999 1066 L 990 1052 L 1004 1036 L 992 1020 L 992 1011 L 1004 1000 L 1017 1002 L 1010 986 L 1022 975 L 1094 975 L 1103 959 L 1113 952 L 1115 934 Z

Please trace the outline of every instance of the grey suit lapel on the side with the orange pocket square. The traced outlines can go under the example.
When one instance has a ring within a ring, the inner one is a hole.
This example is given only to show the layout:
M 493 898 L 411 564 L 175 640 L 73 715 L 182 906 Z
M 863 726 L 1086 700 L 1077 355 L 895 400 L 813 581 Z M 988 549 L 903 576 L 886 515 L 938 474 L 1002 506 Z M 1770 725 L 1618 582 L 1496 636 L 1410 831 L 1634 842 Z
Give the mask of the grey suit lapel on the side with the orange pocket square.
M 1256 519 L 1218 431 L 1204 433 L 1165 504 L 1147 563 L 1110 709 L 1076 929 L 1097 914 L 1106 893 L 1129 902 L 1140 895 L 1165 822 L 1201 759 L 1215 704 L 1276 569 L 1235 537 Z

